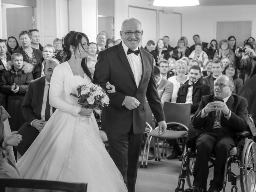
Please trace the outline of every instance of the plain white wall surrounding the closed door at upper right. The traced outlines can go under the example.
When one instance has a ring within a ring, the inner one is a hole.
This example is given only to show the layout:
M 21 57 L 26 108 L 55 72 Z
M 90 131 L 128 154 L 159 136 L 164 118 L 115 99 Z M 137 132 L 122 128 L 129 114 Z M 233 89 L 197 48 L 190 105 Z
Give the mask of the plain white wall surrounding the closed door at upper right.
M 244 6 L 192 6 L 173 8 L 182 14 L 182 36 L 194 44 L 194 34 L 199 34 L 203 42 L 216 38 L 218 21 L 252 21 L 252 36 L 256 37 L 256 5 Z M 227 37 L 228 38 L 228 37 Z

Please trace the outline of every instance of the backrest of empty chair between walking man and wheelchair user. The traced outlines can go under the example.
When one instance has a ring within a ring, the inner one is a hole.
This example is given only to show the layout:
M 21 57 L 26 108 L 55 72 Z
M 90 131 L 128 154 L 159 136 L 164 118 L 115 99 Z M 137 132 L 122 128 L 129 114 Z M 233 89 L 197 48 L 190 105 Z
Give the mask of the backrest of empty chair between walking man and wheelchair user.
M 178 122 L 189 128 L 190 124 L 190 103 L 164 102 L 164 115 L 166 123 Z

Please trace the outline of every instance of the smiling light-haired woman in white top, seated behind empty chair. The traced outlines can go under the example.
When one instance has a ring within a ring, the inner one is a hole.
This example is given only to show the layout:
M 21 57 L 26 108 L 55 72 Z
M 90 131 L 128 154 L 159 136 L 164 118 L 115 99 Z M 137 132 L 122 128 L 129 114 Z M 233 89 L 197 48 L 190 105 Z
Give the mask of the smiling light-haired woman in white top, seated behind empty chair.
M 172 92 L 172 99 L 171 99 L 171 102 L 173 103 L 176 103 L 176 99 L 178 97 L 177 94 L 180 86 L 186 80 L 188 80 L 188 76 L 186 76 L 187 70 L 188 70 L 188 66 L 186 62 L 180 59 L 176 61 L 176 64 L 175 64 L 175 71 L 177 75 L 168 78 L 168 81 L 172 82 L 173 84 L 173 92 Z

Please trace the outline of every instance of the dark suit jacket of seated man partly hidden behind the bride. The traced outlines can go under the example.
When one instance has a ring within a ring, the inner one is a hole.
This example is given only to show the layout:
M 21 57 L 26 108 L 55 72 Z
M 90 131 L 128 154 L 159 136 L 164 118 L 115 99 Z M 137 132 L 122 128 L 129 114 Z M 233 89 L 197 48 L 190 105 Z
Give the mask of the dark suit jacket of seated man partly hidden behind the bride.
M 30 82 L 22 103 L 22 114 L 26 120 L 22 126 L 28 126 L 33 120 L 41 119 L 44 85 L 45 76 Z

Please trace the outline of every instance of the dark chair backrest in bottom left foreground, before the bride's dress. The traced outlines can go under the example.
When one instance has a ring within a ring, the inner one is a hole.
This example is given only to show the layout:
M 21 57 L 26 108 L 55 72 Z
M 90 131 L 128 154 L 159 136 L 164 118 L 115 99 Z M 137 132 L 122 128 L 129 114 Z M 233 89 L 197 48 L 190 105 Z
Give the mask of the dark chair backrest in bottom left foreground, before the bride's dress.
M 60 182 L 32 179 L 0 179 L 0 192 L 37 192 L 61 190 L 63 192 L 86 192 L 86 183 Z M 52 191 L 54 192 L 54 191 Z

